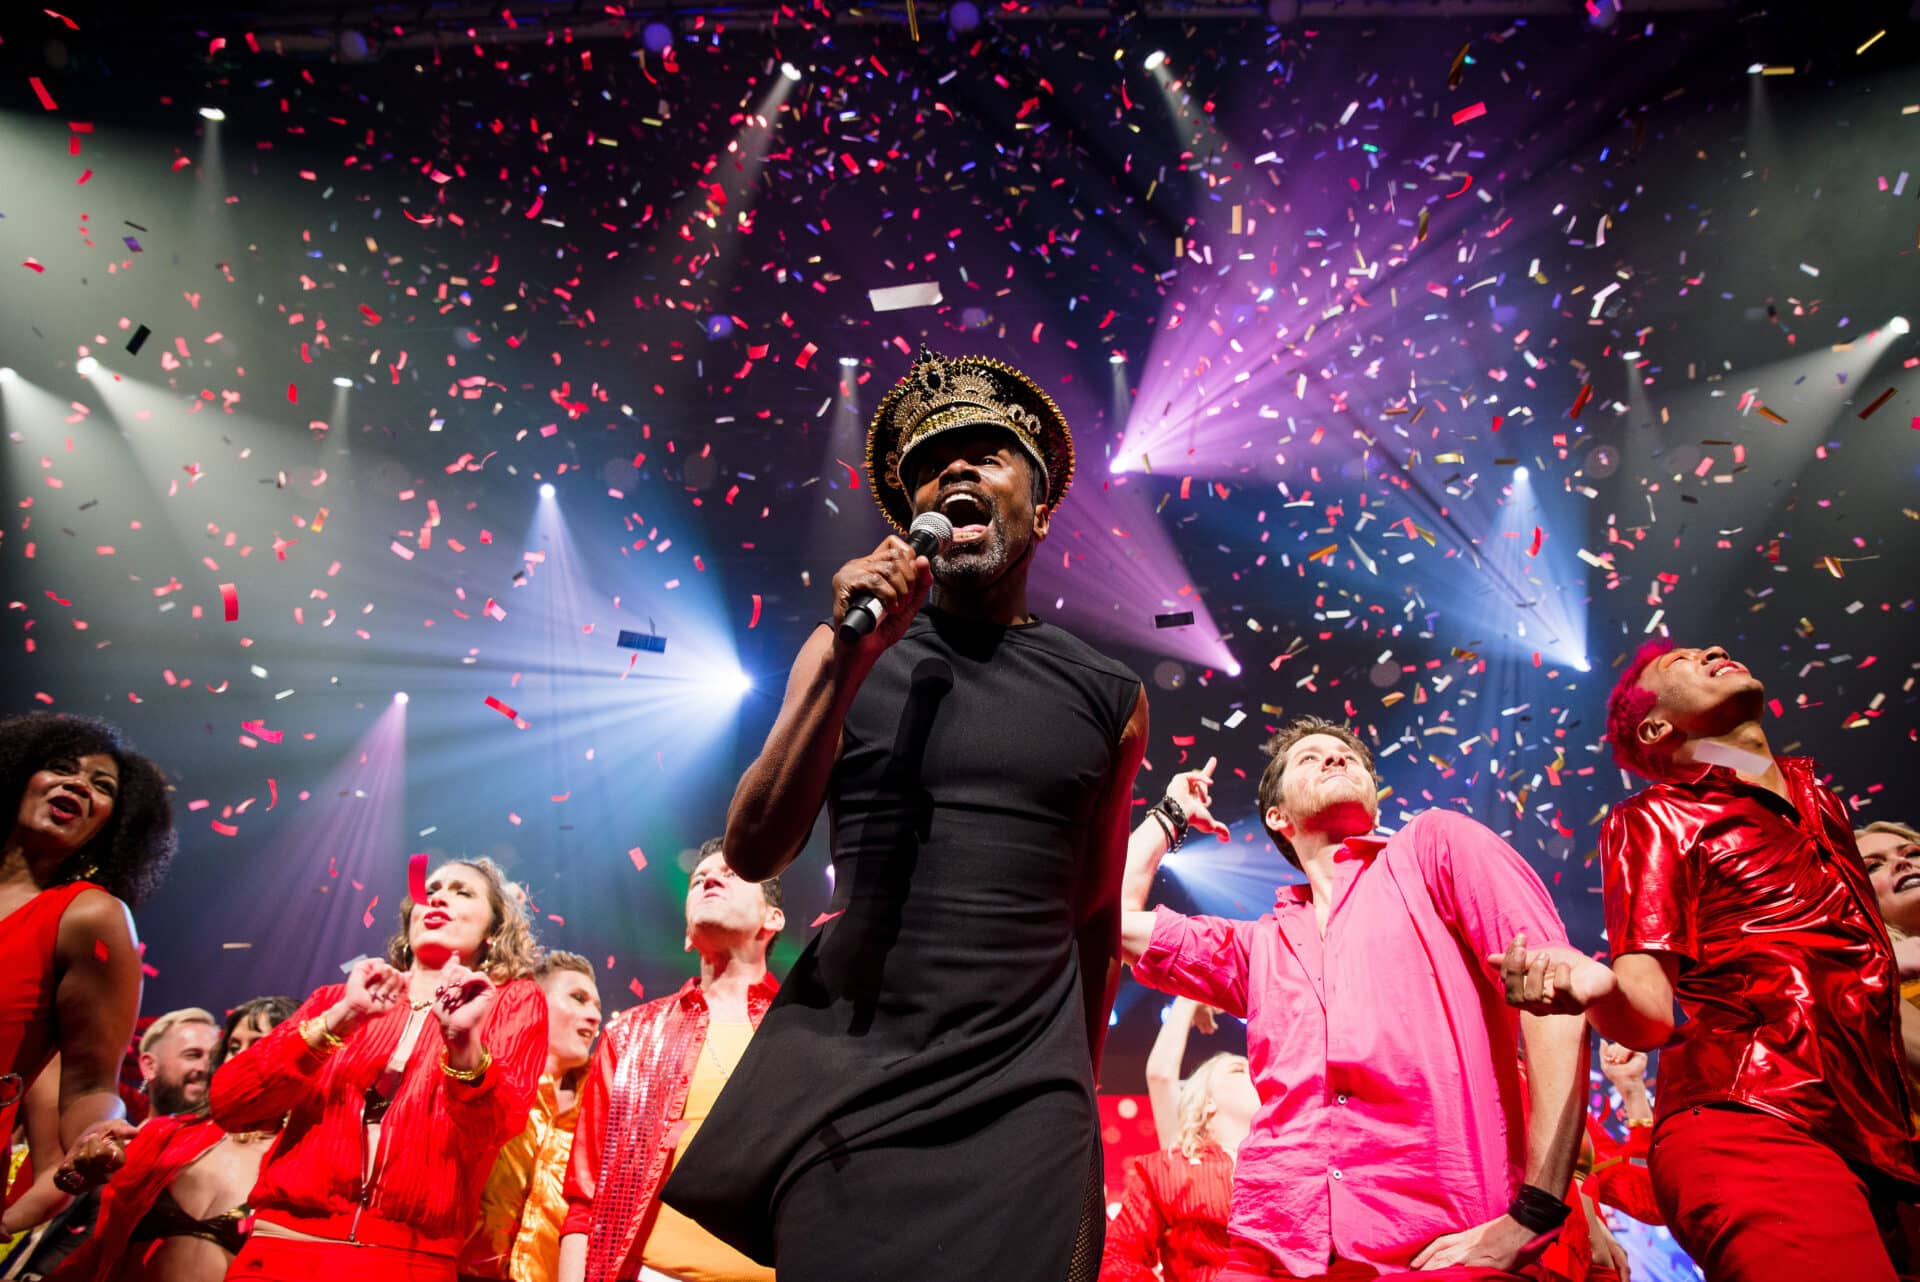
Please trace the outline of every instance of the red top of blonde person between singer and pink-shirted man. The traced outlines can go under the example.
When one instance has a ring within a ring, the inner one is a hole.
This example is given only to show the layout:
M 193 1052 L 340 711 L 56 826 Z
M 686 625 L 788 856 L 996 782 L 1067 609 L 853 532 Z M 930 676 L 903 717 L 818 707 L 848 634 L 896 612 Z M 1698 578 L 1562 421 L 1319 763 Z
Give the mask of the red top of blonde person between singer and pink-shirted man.
M 1106 1226 L 1100 1282 L 1210 1282 L 1227 1263 L 1231 1203 L 1233 1157 L 1213 1144 L 1198 1157 L 1177 1148 L 1135 1157 Z

